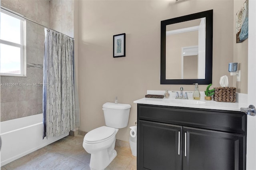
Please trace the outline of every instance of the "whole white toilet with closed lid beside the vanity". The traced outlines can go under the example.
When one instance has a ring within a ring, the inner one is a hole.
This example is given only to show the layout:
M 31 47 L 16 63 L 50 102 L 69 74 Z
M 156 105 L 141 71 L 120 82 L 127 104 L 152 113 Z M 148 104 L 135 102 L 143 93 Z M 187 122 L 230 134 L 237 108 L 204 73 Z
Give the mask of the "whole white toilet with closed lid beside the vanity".
M 102 107 L 106 126 L 84 136 L 83 147 L 91 154 L 91 170 L 104 170 L 116 157 L 116 133 L 119 128 L 127 127 L 131 105 L 107 102 Z

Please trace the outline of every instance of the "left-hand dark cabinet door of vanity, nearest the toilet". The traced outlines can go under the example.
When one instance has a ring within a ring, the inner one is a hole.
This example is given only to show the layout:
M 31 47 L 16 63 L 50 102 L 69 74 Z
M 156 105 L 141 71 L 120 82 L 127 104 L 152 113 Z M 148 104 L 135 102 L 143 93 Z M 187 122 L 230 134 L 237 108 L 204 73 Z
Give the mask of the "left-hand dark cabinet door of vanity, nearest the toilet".
M 138 169 L 181 170 L 182 127 L 141 120 L 138 126 Z

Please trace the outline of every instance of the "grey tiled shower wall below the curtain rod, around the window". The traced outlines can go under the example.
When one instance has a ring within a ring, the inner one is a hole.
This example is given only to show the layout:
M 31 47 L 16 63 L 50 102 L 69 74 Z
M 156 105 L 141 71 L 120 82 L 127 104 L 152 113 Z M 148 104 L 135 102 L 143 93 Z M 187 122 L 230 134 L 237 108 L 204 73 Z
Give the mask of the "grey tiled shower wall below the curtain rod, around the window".
M 42 113 L 44 27 L 26 21 L 26 77 L 1 76 L 1 121 Z

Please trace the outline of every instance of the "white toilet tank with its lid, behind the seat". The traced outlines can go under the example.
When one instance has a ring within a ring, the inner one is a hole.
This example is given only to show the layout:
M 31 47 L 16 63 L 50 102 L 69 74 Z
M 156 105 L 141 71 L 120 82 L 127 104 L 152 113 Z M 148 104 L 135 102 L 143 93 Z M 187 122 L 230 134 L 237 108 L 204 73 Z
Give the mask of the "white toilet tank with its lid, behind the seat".
M 107 102 L 102 107 L 106 126 L 113 128 L 127 127 L 131 105 Z

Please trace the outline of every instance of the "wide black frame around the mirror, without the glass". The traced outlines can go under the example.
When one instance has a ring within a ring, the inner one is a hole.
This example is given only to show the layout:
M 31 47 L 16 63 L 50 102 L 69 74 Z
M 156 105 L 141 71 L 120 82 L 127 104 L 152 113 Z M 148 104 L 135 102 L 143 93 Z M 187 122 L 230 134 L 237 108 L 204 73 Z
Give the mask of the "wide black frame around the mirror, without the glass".
M 206 61 L 205 79 L 166 79 L 166 26 L 179 22 L 195 20 L 206 17 Z M 161 69 L 160 84 L 191 85 L 198 83 L 208 85 L 212 83 L 212 35 L 213 35 L 213 10 L 198 12 L 177 18 L 161 21 Z

